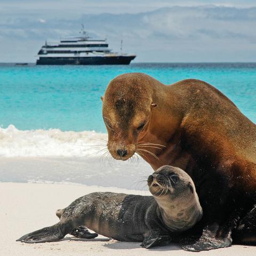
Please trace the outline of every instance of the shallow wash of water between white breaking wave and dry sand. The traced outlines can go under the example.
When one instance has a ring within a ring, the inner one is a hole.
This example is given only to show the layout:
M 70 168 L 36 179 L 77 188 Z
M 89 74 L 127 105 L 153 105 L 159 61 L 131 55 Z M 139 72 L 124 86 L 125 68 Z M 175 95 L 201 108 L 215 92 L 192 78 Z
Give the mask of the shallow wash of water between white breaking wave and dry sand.
M 153 173 L 140 162 L 103 162 L 100 157 L 1 157 L 0 181 L 58 183 L 142 190 Z

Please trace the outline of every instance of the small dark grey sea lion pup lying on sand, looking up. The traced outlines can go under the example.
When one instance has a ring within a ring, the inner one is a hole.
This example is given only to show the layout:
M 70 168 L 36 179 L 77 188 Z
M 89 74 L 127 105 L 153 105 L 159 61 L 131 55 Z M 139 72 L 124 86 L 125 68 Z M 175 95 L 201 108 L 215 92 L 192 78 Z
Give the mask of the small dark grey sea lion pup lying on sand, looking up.
M 150 248 L 169 243 L 202 217 L 202 208 L 189 175 L 177 167 L 163 166 L 148 177 L 153 196 L 92 193 L 57 211 L 60 222 L 17 241 L 43 243 L 59 241 L 68 233 L 94 238 L 86 228 L 119 241 L 142 242 Z

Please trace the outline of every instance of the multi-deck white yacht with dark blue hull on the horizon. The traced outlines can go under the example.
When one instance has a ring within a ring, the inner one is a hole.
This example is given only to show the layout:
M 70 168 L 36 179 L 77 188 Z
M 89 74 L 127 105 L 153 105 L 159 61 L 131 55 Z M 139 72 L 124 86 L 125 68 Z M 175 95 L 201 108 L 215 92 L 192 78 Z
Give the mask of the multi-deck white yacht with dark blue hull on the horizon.
M 90 38 L 82 25 L 81 36 L 60 39 L 58 44 L 45 45 L 38 52 L 37 65 L 129 65 L 135 54 L 112 52 L 107 39 Z

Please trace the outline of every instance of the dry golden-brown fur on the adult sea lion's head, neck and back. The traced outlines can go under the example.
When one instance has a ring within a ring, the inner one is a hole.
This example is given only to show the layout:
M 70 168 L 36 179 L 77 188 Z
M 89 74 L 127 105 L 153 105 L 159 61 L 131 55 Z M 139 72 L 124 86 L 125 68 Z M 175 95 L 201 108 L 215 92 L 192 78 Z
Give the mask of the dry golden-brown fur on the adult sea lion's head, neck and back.
M 129 102 L 122 111 L 115 108 L 120 99 Z M 157 108 L 150 110 L 151 102 L 156 103 Z M 141 112 L 149 121 L 145 129 L 134 136 L 132 118 Z M 108 130 L 109 147 L 114 142 L 121 145 L 120 140 L 124 147 L 140 141 L 166 146 L 163 150 L 150 149 L 159 161 L 150 155 L 142 156 L 154 170 L 165 164 L 183 169 L 186 163 L 191 164 L 195 158 L 191 150 L 182 150 L 179 146 L 182 137 L 186 137 L 196 157 L 209 155 L 215 164 L 227 167 L 228 175 L 232 168 L 236 169 L 234 183 L 239 175 L 250 175 L 251 184 L 246 186 L 256 188 L 256 126 L 210 84 L 186 79 L 165 86 L 145 74 L 124 74 L 110 82 L 103 99 L 103 116 L 116 122 L 114 131 Z M 123 138 L 121 133 L 128 137 Z M 243 178 L 246 184 L 248 178 Z

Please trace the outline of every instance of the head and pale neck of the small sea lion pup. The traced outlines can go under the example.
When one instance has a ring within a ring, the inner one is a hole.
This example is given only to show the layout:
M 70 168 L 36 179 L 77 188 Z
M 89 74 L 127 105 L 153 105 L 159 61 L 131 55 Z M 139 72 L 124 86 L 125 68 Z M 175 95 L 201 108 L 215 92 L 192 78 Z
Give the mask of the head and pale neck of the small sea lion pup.
M 195 185 L 190 176 L 178 167 L 164 165 L 148 177 L 162 220 L 171 230 L 184 231 L 202 218 Z

